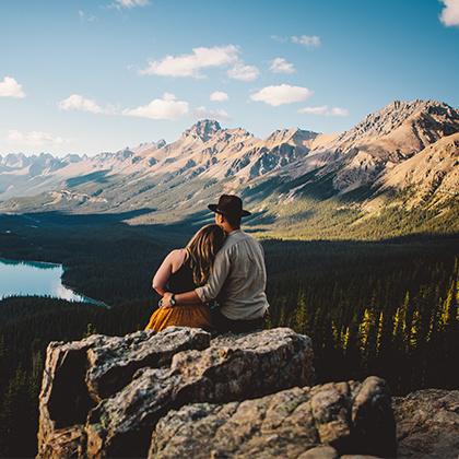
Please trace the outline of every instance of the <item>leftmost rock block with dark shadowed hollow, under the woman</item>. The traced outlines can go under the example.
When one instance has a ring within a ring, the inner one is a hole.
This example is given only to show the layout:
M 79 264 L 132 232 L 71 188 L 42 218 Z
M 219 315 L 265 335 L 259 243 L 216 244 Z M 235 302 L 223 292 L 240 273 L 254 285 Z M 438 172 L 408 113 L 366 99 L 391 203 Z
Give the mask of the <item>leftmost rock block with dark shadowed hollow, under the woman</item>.
M 170 364 L 175 353 L 209 344 L 209 333 L 188 328 L 51 342 L 39 396 L 38 456 L 62 457 L 66 438 L 72 445 L 83 444 L 89 411 L 129 384 L 137 369 Z

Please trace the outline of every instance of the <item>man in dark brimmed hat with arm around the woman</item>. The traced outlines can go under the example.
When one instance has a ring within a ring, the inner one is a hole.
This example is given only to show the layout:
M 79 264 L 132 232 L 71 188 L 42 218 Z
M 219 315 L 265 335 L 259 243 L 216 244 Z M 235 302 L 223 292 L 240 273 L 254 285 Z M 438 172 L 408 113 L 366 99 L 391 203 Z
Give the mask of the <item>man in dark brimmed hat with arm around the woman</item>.
M 195 291 L 173 295 L 166 293 L 163 307 L 211 303 L 220 307 L 212 310 L 212 322 L 220 332 L 262 329 L 269 304 L 264 293 L 267 272 L 261 244 L 240 229 L 243 209 L 237 196 L 222 195 L 217 204 L 209 204 L 215 213 L 215 223 L 227 237 L 216 254 L 211 275 L 205 285 Z

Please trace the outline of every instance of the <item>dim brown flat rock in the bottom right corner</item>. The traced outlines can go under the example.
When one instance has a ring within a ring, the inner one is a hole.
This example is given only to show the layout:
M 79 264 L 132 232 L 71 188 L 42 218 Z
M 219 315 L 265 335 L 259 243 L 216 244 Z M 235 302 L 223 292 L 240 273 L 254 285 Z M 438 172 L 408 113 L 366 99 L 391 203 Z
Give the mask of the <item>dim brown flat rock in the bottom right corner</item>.
M 393 410 L 400 458 L 458 458 L 459 390 L 417 390 L 396 397 Z

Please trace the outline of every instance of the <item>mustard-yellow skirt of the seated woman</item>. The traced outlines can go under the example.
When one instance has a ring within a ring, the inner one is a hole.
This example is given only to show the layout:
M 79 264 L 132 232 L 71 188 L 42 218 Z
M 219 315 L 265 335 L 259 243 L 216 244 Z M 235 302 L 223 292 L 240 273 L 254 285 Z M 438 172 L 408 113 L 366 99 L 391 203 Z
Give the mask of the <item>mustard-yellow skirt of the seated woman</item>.
M 145 330 L 161 331 L 167 327 L 211 328 L 211 316 L 208 306 L 174 306 L 156 309 Z

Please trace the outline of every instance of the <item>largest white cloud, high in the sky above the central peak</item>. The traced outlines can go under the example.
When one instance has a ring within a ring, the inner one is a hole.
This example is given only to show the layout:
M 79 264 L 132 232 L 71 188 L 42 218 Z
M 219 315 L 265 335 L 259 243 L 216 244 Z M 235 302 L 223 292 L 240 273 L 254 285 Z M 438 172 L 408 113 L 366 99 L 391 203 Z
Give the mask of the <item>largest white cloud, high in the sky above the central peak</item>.
M 193 48 L 190 55 L 166 56 L 162 60 L 149 62 L 141 74 L 162 76 L 202 78 L 200 70 L 210 67 L 223 67 L 238 59 L 239 50 L 234 45 L 214 46 L 212 48 Z

